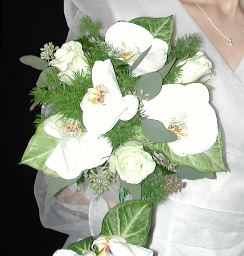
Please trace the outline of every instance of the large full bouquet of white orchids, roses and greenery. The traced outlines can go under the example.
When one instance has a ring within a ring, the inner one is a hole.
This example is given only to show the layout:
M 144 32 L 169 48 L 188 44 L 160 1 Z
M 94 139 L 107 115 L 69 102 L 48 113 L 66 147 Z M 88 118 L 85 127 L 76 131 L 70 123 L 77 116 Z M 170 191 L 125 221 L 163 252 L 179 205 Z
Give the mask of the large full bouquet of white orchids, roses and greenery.
M 20 58 L 42 70 L 30 93 L 42 114 L 20 163 L 52 177 L 50 196 L 85 180 L 95 194 L 119 182 L 120 201 L 130 193 L 155 204 L 182 179 L 225 171 L 211 88 L 199 82 L 212 68 L 199 36 L 171 45 L 172 16 L 120 21 L 105 37 L 100 28 L 84 17 L 77 40 Z

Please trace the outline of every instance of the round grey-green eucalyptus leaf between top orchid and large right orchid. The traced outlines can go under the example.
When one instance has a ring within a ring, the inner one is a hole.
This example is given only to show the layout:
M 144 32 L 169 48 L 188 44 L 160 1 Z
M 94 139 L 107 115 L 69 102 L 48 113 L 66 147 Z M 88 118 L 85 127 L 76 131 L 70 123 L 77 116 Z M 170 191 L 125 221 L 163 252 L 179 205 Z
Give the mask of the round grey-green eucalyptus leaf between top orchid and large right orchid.
M 158 72 L 145 74 L 137 80 L 134 89 L 137 91 L 137 96 L 140 98 L 153 99 L 162 89 L 163 79 Z M 143 93 L 141 94 L 141 90 Z M 145 94 L 148 95 L 145 95 Z

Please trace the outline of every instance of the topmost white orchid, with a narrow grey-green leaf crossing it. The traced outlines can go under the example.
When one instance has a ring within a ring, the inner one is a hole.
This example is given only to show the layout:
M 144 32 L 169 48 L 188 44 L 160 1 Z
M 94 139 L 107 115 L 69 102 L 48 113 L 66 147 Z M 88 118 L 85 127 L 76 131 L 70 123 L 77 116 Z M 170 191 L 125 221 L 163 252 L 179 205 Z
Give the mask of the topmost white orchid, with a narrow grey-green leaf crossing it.
M 152 46 L 148 55 L 133 71 L 133 76 L 158 71 L 165 65 L 168 44 L 163 40 L 153 38 L 148 30 L 139 25 L 130 22 L 117 22 L 107 30 L 105 41 L 117 48 L 121 52 L 120 59 L 126 61 L 130 66 Z

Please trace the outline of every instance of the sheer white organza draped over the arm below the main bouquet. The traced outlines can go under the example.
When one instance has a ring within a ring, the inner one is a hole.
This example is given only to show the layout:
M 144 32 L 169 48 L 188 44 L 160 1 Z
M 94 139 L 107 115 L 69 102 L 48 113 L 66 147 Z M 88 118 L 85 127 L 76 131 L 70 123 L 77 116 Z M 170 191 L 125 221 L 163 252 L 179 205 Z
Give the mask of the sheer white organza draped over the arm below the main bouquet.
M 101 196 L 94 195 L 89 182 L 85 182 L 81 191 L 75 189 L 76 185 L 71 185 L 49 197 L 49 179 L 38 172 L 34 185 L 43 226 L 79 238 L 97 237 L 103 217 L 109 210 L 107 202 L 118 203 L 119 183 L 111 183 L 109 191 Z

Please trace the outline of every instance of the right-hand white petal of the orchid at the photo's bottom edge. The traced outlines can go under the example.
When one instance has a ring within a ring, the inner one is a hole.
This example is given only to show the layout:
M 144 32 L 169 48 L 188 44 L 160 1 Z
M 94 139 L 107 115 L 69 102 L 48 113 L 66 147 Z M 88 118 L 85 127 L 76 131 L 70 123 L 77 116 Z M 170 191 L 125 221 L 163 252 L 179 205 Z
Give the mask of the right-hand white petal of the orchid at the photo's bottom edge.
M 114 256 L 152 256 L 153 251 L 132 245 L 130 243 L 121 243 L 115 239 L 110 239 L 109 247 Z

